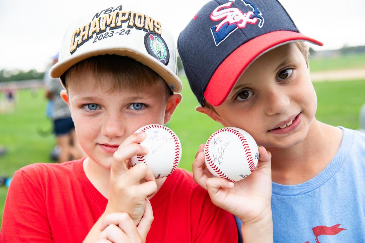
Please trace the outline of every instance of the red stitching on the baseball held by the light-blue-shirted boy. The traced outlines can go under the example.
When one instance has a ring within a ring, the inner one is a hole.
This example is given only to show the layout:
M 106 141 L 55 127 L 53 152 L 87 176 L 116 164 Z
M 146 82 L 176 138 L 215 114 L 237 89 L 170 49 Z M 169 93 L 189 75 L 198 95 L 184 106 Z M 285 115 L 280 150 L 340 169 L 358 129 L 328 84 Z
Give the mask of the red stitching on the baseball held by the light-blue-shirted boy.
M 224 174 L 223 171 L 218 169 L 218 167 L 215 164 L 213 164 L 212 158 L 210 157 L 210 154 L 209 154 L 209 151 L 208 151 L 208 145 L 210 144 L 210 141 L 212 140 L 212 138 L 216 134 L 221 133 L 221 132 L 231 132 L 231 133 L 237 135 L 239 141 L 241 141 L 241 143 L 242 143 L 243 149 L 245 149 L 246 159 L 247 159 L 247 163 L 249 165 L 251 173 L 256 169 L 256 166 L 253 162 L 252 155 L 251 155 L 251 150 L 250 150 L 249 145 L 247 144 L 247 140 L 241 132 L 239 132 L 238 130 L 233 129 L 233 128 L 222 128 L 222 129 L 219 129 L 218 131 L 216 131 L 215 133 L 213 133 L 212 136 L 210 136 L 208 138 L 208 141 L 205 143 L 205 148 L 204 148 L 205 154 L 207 155 L 208 164 L 215 171 L 215 173 L 217 173 L 220 177 L 223 177 L 227 181 L 236 182 L 236 181 L 232 180 L 230 177 L 228 177 L 226 174 Z

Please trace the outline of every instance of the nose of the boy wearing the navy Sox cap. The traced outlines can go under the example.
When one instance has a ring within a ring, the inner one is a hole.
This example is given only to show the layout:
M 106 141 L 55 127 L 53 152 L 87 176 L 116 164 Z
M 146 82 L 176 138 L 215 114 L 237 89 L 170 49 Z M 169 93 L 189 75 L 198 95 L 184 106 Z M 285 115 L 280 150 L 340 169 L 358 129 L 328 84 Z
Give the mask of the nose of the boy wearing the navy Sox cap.
M 283 114 L 290 105 L 289 95 L 283 88 L 270 89 L 266 94 L 266 114 Z

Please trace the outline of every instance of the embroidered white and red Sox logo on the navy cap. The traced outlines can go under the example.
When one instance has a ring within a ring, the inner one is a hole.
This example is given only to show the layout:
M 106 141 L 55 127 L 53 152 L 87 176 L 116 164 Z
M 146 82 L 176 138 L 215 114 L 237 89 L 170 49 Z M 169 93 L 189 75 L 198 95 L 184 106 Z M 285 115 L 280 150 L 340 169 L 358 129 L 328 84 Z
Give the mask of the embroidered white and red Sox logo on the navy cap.
M 258 8 L 250 3 L 249 0 L 240 0 L 245 6 L 251 7 L 252 11 L 243 13 L 239 8 L 231 8 L 233 1 L 218 6 L 210 15 L 213 21 L 221 22 L 211 28 L 215 45 L 218 46 L 228 35 L 232 34 L 237 28 L 246 28 L 247 24 L 257 24 L 262 28 L 264 18 Z

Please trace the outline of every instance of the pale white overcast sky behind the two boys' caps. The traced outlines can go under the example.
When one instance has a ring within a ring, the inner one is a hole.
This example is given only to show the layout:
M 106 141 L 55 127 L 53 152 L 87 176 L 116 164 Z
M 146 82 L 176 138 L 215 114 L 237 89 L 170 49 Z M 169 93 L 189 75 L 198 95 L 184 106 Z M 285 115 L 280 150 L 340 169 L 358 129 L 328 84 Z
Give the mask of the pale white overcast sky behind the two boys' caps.
M 146 6 L 175 42 L 178 34 L 208 0 L 132 0 Z M 324 43 L 314 50 L 365 45 L 364 0 L 281 0 L 299 30 Z M 44 71 L 58 52 L 75 16 L 123 5 L 123 0 L 0 0 L 0 70 Z M 129 4 L 130 5 L 130 4 Z M 145 9 L 145 8 L 143 8 Z M 158 16 L 158 17 L 157 17 Z

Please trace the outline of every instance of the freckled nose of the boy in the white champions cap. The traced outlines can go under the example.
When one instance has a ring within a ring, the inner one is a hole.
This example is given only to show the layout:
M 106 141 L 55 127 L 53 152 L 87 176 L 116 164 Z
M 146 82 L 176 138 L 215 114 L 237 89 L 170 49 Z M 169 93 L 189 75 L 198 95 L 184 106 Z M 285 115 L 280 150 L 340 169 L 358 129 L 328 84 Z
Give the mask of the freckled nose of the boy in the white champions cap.
M 120 113 L 108 113 L 103 120 L 102 133 L 104 136 L 114 138 L 122 137 L 125 127 Z

